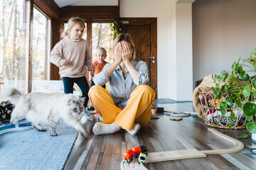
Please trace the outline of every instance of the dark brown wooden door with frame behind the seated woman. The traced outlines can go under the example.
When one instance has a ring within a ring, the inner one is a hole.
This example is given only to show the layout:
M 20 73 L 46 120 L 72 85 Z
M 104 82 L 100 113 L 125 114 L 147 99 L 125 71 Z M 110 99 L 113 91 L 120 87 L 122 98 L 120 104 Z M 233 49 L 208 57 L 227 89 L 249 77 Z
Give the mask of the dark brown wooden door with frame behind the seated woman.
M 136 60 L 146 62 L 149 68 L 148 85 L 157 98 L 157 34 L 156 18 L 120 18 L 122 33 L 129 33 L 134 40 Z

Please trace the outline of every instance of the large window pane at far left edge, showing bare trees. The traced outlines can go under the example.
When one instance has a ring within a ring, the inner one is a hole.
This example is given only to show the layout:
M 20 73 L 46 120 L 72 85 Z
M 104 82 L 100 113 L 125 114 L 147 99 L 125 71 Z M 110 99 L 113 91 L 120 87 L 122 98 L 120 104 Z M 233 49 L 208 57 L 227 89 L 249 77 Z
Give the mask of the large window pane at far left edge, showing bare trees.
M 4 83 L 4 86 L 15 86 L 22 93 L 26 91 L 27 81 L 23 2 L 14 0 L 0 2 L 0 82 Z

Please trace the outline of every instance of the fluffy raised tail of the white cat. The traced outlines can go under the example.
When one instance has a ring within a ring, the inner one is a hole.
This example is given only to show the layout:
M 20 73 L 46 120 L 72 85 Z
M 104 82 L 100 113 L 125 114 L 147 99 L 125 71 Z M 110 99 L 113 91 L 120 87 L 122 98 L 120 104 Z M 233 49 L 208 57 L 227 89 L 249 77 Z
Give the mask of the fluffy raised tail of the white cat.
M 1 98 L 10 101 L 12 104 L 16 105 L 19 98 L 21 97 L 21 92 L 13 86 L 8 86 L 3 89 L 1 92 Z

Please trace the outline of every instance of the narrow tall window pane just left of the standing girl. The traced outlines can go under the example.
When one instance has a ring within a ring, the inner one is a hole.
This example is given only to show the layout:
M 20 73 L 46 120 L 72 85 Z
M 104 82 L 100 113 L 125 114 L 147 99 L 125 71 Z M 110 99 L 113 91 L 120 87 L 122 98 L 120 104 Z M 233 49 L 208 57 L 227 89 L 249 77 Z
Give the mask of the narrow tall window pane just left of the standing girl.
M 46 16 L 43 16 L 36 8 L 33 8 L 32 80 L 47 79 L 46 30 Z

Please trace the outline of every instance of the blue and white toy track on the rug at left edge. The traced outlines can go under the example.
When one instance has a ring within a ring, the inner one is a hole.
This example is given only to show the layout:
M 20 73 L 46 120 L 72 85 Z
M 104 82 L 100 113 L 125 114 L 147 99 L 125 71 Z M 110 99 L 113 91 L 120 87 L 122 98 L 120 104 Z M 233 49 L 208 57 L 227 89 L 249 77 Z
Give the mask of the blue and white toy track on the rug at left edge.
M 0 126 L 0 135 L 6 133 L 6 132 L 14 132 L 19 130 L 28 130 L 32 129 L 32 123 L 21 123 L 18 125 L 3 125 Z

